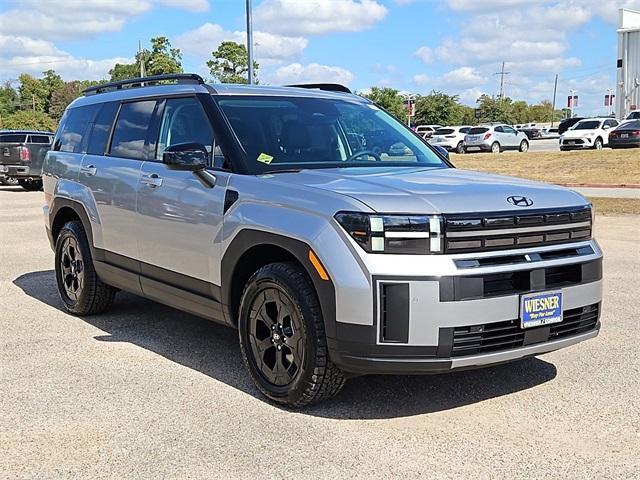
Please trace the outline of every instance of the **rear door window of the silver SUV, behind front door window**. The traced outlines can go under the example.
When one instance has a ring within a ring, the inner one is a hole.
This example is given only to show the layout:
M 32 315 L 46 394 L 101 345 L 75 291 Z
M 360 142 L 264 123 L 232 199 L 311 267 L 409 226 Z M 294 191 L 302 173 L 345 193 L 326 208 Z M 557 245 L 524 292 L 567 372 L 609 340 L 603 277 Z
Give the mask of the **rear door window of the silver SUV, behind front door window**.
M 155 100 L 122 104 L 113 129 L 111 155 L 145 160 L 144 142 L 155 106 Z

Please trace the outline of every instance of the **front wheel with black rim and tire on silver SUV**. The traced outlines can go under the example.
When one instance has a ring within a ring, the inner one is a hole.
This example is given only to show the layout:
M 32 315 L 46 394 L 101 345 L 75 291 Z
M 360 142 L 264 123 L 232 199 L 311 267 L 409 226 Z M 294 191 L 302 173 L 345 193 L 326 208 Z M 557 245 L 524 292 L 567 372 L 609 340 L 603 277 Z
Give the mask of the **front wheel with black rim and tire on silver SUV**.
M 244 364 L 270 400 L 303 407 L 336 395 L 345 377 L 329 359 L 320 304 L 307 273 L 292 262 L 255 272 L 238 320 Z

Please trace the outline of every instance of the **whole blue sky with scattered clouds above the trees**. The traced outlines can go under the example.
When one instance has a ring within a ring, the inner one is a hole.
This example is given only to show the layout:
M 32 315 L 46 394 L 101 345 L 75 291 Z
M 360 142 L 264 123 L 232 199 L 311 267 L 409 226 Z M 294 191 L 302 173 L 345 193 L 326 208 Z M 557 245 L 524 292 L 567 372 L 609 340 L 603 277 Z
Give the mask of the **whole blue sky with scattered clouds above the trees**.
M 457 94 L 551 99 L 578 91 L 578 113 L 605 112 L 615 88 L 618 8 L 640 0 L 253 0 L 263 83 L 337 81 Z M 244 0 L 4 0 L 0 80 L 52 68 L 65 79 L 106 78 L 138 40 L 164 35 L 186 71 L 223 40 L 244 41 Z

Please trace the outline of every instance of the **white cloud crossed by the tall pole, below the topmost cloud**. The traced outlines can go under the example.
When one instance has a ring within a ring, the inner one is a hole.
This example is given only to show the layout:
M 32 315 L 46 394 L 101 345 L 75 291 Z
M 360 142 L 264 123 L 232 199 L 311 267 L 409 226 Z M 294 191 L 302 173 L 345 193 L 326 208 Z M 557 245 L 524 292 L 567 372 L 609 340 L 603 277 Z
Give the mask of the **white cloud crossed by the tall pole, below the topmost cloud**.
M 246 43 L 246 33 L 228 31 L 215 23 L 204 25 L 176 37 L 174 44 L 184 53 L 209 58 L 223 41 Z M 307 47 L 309 41 L 304 37 L 287 37 L 262 31 L 253 32 L 254 54 L 256 61 L 270 62 L 297 58 Z

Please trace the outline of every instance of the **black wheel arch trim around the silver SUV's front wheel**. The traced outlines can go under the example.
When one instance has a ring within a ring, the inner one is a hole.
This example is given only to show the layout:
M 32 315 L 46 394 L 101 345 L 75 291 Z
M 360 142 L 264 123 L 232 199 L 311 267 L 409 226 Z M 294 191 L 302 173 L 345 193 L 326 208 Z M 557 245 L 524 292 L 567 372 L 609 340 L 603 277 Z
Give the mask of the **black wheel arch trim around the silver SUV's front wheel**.
M 233 311 L 233 276 L 241 257 L 251 248 L 257 246 L 279 247 L 290 253 L 305 269 L 313 287 L 318 295 L 322 318 L 325 324 L 327 337 L 335 337 L 336 334 L 336 294 L 335 287 L 331 280 L 322 280 L 311 261 L 309 260 L 309 250 L 311 246 L 302 240 L 297 240 L 276 233 L 264 232 L 254 229 L 243 229 L 231 241 L 222 257 L 221 265 L 221 298 L 224 306 L 227 322 L 236 325 L 235 313 Z

